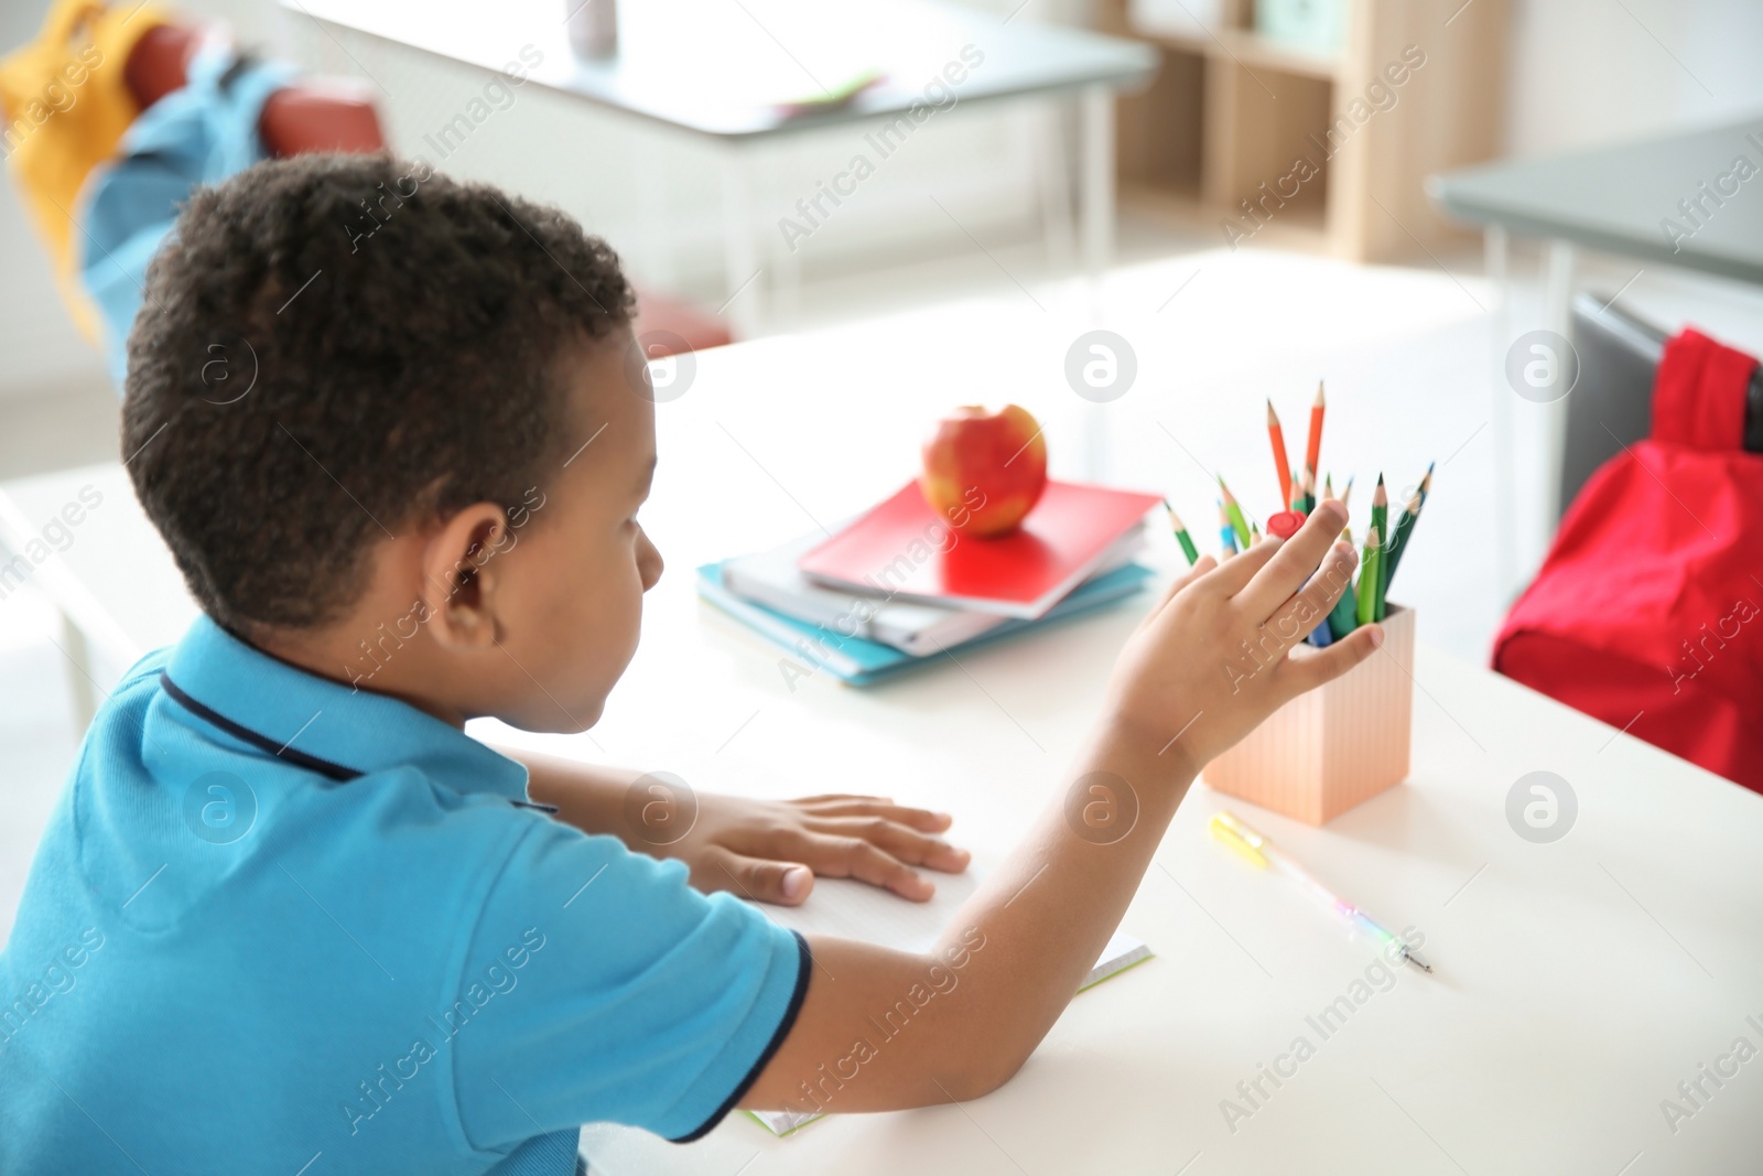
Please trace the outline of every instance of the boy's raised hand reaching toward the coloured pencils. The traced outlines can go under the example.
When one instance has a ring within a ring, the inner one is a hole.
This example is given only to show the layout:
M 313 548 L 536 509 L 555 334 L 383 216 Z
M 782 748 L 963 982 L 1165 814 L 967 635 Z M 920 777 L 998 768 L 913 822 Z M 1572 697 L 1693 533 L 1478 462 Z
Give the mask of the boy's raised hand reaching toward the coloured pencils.
M 1352 582 L 1354 552 L 1336 543 L 1345 524 L 1328 499 L 1291 540 L 1266 538 L 1224 564 L 1202 557 L 1121 651 L 1112 721 L 1192 776 L 1289 698 L 1370 658 L 1384 640 L 1375 624 L 1326 649 L 1305 644 Z

